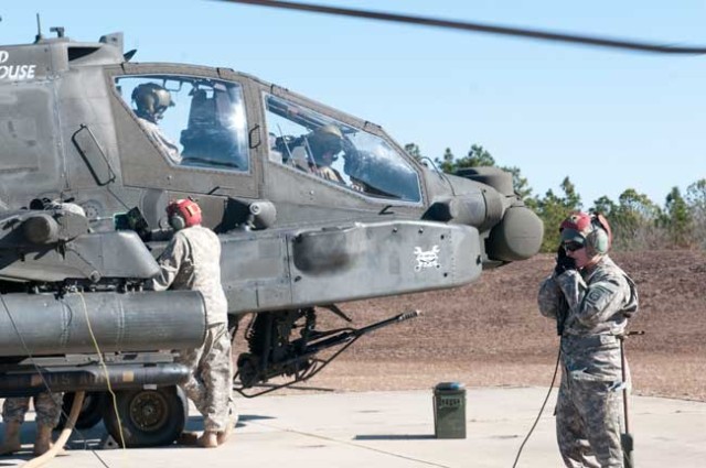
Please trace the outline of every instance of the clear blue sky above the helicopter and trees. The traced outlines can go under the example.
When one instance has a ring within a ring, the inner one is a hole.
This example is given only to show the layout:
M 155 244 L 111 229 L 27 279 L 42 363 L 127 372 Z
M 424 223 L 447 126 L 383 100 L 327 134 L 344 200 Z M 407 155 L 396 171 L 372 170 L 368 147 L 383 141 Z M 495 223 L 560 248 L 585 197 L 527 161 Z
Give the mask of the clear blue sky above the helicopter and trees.
M 706 44 L 706 2 L 318 0 L 678 44 Z M 585 208 L 635 188 L 662 205 L 706 177 L 706 56 L 664 56 L 275 11 L 208 0 L 6 1 L 0 41 L 122 31 L 135 62 L 225 66 L 382 124 L 425 155 L 483 145 L 534 194 L 565 176 Z

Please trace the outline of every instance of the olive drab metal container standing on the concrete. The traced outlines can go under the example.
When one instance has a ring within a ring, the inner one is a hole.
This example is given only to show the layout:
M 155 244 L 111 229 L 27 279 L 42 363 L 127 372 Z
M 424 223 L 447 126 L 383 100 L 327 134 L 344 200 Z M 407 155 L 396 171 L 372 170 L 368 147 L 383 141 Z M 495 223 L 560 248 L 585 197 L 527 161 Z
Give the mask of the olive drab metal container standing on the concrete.
M 434 388 L 434 435 L 466 438 L 466 387 L 441 382 Z

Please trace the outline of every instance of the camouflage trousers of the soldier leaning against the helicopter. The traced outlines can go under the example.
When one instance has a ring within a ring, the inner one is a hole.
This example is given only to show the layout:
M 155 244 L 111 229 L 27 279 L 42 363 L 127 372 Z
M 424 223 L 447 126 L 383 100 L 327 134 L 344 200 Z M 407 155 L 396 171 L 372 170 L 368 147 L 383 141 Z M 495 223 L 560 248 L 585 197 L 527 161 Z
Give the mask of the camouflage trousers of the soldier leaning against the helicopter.
M 225 431 L 233 389 L 227 325 L 208 325 L 203 346 L 181 351 L 176 362 L 191 369 L 189 380 L 181 387 L 203 415 L 204 431 Z

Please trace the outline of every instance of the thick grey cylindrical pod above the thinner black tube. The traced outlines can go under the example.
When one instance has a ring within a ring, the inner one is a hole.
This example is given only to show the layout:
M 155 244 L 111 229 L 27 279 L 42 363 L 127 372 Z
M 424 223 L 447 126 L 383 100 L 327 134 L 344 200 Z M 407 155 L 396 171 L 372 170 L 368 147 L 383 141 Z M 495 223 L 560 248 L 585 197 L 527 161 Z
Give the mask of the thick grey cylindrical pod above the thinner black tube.
M 205 306 L 195 291 L 4 294 L 0 357 L 96 352 L 88 325 L 103 352 L 196 348 Z

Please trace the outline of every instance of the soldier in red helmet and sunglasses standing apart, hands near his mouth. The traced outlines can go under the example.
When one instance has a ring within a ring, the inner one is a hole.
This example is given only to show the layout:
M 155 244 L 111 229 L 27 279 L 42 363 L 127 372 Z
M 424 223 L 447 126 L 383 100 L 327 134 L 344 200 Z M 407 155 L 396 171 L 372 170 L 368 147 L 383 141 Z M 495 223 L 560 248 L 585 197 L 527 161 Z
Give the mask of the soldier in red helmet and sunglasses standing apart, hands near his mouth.
M 539 312 L 557 319 L 561 384 L 556 407 L 567 467 L 623 466 L 620 445 L 620 342 L 638 309 L 633 281 L 608 257 L 606 219 L 575 213 L 561 222 L 554 273 L 542 282 Z

